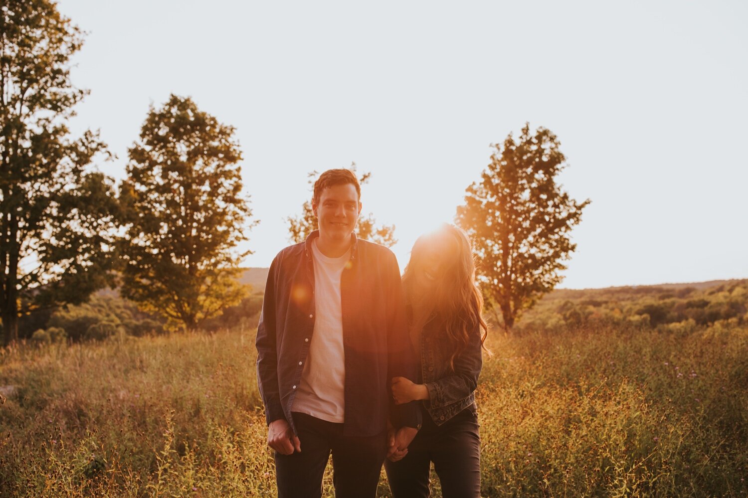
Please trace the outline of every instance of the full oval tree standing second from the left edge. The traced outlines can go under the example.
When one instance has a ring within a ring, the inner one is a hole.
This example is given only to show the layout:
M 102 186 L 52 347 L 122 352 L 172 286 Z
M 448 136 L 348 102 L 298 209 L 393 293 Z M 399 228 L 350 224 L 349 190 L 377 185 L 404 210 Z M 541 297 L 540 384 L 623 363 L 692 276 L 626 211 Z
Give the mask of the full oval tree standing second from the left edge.
M 245 295 L 239 262 L 251 251 L 236 246 L 254 223 L 233 134 L 190 98 L 171 95 L 150 107 L 129 149 L 122 291 L 170 328 L 199 328 Z

